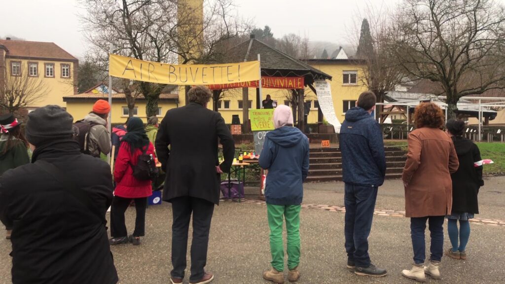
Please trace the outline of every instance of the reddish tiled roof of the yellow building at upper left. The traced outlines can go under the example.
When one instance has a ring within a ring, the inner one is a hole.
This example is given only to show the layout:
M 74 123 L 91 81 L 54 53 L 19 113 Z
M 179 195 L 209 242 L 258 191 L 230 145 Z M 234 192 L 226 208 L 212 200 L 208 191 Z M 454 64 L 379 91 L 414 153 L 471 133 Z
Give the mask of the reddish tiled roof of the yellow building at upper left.
M 7 57 L 77 60 L 54 42 L 0 39 L 0 45 L 9 50 Z

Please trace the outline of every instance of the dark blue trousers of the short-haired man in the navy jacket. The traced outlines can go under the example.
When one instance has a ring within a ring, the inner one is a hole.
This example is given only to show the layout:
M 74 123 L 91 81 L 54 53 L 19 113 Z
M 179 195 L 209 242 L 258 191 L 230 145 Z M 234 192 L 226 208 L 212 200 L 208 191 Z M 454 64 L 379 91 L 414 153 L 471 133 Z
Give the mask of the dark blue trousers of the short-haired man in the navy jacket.
M 368 235 L 372 228 L 378 187 L 345 183 L 345 251 L 359 267 L 370 266 Z

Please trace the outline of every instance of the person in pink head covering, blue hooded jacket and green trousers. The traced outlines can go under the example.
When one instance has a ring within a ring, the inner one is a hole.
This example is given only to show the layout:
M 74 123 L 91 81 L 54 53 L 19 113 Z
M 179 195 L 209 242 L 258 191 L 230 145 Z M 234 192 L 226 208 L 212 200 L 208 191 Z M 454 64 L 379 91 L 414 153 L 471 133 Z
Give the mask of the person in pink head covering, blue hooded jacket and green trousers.
M 282 222 L 286 219 L 288 279 L 298 280 L 300 273 L 300 209 L 304 197 L 303 182 L 309 173 L 309 139 L 293 127 L 293 114 L 288 106 L 274 111 L 275 130 L 267 133 L 260 155 L 260 166 L 268 169 L 265 188 L 272 269 L 263 278 L 284 282 L 284 243 Z

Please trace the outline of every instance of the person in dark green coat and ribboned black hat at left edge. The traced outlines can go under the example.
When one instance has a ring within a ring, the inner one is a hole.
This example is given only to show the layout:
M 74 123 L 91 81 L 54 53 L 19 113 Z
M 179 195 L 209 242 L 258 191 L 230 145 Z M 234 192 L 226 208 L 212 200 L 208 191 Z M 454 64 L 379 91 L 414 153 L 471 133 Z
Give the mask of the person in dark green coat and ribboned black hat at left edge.
M 28 163 L 28 141 L 21 130 L 21 123 L 13 114 L 0 116 L 0 175 Z M 6 229 L 6 239 L 11 239 L 11 227 Z

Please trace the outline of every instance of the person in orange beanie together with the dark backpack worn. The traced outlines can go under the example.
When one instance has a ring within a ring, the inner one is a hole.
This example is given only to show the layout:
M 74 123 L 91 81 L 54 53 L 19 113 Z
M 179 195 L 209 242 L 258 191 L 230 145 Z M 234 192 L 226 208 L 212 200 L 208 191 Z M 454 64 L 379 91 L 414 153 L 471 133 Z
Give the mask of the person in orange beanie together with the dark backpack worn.
M 98 100 L 93 111 L 84 119 L 74 123 L 74 138 L 81 147 L 81 152 L 100 158 L 100 153 L 111 153 L 111 134 L 107 130 L 107 117 L 111 106 L 105 100 Z

